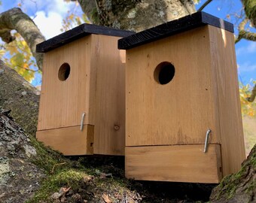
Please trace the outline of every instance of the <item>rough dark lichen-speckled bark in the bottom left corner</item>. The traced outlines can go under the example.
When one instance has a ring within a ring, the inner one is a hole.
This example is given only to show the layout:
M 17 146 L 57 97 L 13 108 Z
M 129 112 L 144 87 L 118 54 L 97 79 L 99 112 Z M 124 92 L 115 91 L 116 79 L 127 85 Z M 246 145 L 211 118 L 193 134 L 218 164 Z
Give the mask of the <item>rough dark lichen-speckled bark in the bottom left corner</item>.
M 30 159 L 38 156 L 29 137 L 0 111 L 0 202 L 25 202 L 39 189 L 44 171 Z

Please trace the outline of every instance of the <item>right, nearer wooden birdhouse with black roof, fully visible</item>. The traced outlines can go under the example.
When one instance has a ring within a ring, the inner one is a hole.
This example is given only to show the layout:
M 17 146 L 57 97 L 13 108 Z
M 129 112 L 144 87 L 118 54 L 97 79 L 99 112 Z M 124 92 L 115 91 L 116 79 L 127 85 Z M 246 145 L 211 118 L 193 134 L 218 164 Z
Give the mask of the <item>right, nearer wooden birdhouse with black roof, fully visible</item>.
M 233 25 L 198 12 L 126 50 L 126 177 L 218 183 L 245 159 Z

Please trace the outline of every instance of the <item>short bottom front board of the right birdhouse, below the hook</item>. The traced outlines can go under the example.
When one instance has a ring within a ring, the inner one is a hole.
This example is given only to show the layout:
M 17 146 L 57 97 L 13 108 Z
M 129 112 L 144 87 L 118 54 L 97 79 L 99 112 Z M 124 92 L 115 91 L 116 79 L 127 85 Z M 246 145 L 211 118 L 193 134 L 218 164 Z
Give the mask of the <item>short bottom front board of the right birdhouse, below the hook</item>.
M 221 151 L 210 144 L 126 147 L 126 177 L 190 183 L 219 183 Z

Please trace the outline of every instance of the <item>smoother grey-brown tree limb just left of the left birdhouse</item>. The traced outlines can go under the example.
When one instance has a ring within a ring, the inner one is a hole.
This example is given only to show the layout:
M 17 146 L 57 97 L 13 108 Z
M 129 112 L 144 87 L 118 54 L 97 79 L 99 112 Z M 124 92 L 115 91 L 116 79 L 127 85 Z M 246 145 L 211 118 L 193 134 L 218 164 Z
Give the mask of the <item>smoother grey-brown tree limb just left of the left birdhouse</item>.
M 23 129 L 35 135 L 39 91 L 0 60 L 0 109 L 8 112 Z

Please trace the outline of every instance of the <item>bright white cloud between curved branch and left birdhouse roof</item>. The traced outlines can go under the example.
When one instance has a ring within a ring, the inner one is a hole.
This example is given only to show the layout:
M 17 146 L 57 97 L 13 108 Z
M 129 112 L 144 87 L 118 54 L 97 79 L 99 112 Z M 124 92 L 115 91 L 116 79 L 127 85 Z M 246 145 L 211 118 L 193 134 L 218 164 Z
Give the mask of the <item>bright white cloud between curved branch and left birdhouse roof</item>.
M 61 33 L 62 16 L 56 12 L 39 11 L 35 14 L 34 22 L 46 39 L 53 38 Z

